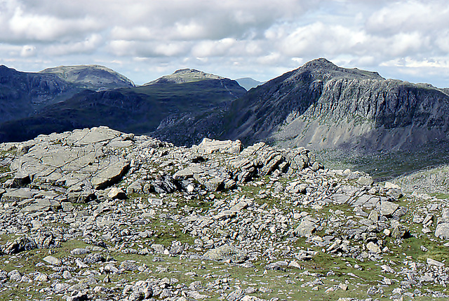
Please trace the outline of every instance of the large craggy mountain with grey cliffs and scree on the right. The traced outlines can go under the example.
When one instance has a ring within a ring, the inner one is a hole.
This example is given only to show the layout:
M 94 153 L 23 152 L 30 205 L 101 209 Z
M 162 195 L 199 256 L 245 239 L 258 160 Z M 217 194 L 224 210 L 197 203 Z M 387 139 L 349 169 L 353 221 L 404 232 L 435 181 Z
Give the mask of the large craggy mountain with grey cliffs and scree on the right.
M 253 89 L 229 110 L 225 136 L 314 149 L 413 149 L 447 140 L 449 97 L 325 59 Z

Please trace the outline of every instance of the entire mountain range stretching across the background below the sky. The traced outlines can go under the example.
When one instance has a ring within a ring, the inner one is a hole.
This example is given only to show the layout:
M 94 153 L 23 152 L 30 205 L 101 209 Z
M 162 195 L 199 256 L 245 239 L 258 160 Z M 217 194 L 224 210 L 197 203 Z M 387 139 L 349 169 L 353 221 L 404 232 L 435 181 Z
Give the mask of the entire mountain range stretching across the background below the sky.
M 252 83 L 246 91 L 237 81 L 180 69 L 135 86 L 98 65 L 39 73 L 2 66 L 0 140 L 105 125 L 175 145 L 208 137 L 373 154 L 448 142 L 448 89 L 384 79 L 325 58 Z

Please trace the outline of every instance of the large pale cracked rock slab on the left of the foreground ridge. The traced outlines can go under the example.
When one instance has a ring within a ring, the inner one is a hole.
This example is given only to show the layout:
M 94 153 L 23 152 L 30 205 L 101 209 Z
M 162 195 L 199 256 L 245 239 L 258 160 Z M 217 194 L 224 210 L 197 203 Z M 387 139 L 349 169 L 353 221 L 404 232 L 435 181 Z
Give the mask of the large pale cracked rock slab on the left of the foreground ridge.
M 105 188 L 119 180 L 129 168 L 129 161 L 123 156 L 107 155 L 120 149 L 108 149 L 108 144 L 127 139 L 128 136 L 123 137 L 118 131 L 101 127 L 36 138 L 27 154 L 11 163 L 11 170 L 15 172 L 15 179 L 20 175 L 34 182 L 65 187 Z

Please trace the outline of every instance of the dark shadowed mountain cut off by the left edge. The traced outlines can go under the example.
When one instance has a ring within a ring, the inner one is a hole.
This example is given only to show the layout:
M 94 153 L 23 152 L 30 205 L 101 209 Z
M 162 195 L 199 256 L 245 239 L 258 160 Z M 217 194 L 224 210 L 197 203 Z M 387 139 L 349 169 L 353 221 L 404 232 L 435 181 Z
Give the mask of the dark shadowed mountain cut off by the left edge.
M 53 74 L 19 72 L 0 66 L 0 123 L 33 114 L 72 97 L 81 88 Z

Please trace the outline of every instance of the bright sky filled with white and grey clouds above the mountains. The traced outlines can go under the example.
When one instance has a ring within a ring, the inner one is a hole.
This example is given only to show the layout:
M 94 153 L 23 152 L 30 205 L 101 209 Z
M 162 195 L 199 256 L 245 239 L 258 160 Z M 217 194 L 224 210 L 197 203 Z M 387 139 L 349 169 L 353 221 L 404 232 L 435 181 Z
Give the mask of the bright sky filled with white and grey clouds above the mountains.
M 0 0 L 0 65 L 267 81 L 315 58 L 449 87 L 443 0 Z

